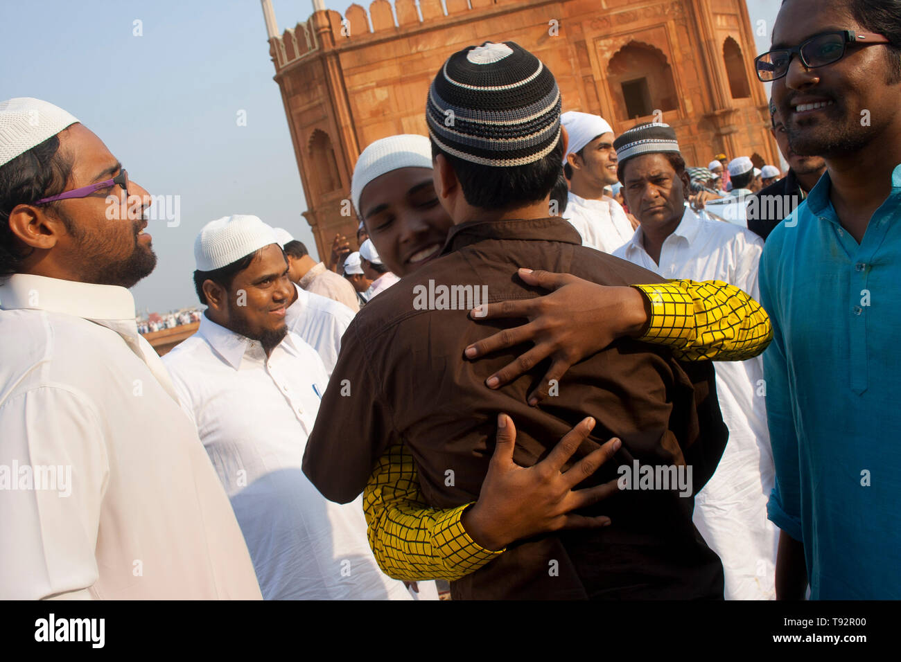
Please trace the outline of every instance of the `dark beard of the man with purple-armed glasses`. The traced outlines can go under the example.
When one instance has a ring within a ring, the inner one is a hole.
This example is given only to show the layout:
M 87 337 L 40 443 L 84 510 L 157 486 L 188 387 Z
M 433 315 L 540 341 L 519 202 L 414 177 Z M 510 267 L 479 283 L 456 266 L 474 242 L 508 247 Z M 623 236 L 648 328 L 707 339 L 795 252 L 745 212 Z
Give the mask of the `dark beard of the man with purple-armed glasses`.
M 143 220 L 132 224 L 132 251 L 126 258 L 110 258 L 111 254 L 121 252 L 115 240 L 110 240 L 97 232 L 88 234 L 68 216 L 62 216 L 69 234 L 77 244 L 79 253 L 79 280 L 96 285 L 114 285 L 125 288 L 135 286 L 141 278 L 150 276 L 157 266 L 157 255 L 150 246 L 142 246 L 138 241 Z

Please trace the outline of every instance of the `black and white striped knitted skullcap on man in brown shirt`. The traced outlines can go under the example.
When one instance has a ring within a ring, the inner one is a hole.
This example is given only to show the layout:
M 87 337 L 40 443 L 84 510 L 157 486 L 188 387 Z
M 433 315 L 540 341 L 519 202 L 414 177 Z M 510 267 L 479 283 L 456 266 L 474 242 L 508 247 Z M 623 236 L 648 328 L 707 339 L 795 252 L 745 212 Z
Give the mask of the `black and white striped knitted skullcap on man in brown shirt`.
M 425 107 L 432 140 L 483 166 L 524 166 L 560 140 L 560 89 L 550 69 L 513 41 L 469 46 L 432 81 Z

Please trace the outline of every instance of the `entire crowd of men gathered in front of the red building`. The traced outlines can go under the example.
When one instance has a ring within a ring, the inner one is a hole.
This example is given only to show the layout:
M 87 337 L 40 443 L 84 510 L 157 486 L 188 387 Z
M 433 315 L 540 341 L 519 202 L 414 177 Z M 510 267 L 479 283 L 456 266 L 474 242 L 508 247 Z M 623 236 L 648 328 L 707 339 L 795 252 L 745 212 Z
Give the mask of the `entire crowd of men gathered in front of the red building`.
M 0 597 L 901 598 L 901 5 L 786 0 L 755 67 L 786 177 L 452 53 L 358 249 L 205 223 L 162 359 L 147 192 L 0 103 L 0 468 L 76 476 L 0 472 Z

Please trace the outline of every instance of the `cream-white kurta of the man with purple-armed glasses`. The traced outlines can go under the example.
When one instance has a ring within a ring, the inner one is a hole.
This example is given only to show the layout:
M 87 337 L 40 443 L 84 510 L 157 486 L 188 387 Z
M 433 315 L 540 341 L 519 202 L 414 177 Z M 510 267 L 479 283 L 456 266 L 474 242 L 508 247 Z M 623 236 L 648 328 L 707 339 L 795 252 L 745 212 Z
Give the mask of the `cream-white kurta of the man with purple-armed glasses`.
M 0 308 L 0 599 L 259 600 L 131 293 L 19 274 Z

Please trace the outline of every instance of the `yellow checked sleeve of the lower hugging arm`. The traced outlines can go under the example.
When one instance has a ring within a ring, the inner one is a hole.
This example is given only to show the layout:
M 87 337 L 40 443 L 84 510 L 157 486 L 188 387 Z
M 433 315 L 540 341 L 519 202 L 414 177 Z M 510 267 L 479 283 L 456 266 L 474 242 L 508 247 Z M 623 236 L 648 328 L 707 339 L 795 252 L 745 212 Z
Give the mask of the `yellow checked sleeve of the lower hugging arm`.
M 378 567 L 408 582 L 452 582 L 499 557 L 503 549 L 482 549 L 463 530 L 460 517 L 469 505 L 429 508 L 413 456 L 401 442 L 389 446 L 363 491 L 366 532 Z

